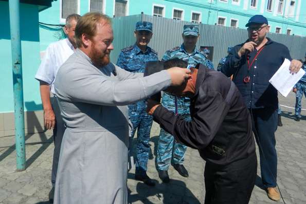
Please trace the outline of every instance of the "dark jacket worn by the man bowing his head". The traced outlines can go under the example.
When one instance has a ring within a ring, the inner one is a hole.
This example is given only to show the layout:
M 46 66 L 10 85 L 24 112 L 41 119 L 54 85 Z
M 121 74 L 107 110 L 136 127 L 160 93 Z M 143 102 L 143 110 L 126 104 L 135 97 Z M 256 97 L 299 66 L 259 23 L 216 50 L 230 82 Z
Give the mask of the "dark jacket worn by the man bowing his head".
M 221 72 L 200 65 L 191 98 L 191 121 L 158 106 L 154 120 L 175 139 L 199 150 L 207 162 L 227 165 L 255 154 L 250 113 L 237 89 Z

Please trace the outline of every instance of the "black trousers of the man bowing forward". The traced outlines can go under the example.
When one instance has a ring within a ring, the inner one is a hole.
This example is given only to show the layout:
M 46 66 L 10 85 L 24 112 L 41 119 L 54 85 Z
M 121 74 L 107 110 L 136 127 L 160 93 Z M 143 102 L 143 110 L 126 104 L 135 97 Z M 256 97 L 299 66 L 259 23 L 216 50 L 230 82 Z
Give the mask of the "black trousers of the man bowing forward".
M 256 153 L 227 166 L 205 164 L 205 204 L 247 204 L 257 176 Z

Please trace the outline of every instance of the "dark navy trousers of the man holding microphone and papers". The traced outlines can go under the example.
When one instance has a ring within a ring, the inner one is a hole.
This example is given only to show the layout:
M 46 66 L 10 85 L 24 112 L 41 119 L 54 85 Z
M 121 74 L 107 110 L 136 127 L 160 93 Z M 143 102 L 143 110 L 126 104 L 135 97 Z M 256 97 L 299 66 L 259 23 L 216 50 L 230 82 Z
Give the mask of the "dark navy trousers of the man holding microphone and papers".
M 260 154 L 261 178 L 264 186 L 276 187 L 277 153 L 275 132 L 277 129 L 277 108 L 265 107 L 252 109 L 253 132 Z

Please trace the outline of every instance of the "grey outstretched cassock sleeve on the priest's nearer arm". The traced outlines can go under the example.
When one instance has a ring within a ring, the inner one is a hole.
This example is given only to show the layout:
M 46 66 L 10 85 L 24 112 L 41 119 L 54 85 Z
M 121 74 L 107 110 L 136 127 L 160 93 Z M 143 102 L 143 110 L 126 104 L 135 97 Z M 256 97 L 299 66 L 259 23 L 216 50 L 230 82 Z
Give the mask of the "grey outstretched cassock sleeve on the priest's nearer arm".
M 121 72 L 117 75 L 126 79 L 118 80 L 118 76 L 112 79 L 83 68 L 69 69 L 57 76 L 56 94 L 63 100 L 73 102 L 117 106 L 146 99 L 171 85 L 166 70 L 148 77 L 134 78 Z

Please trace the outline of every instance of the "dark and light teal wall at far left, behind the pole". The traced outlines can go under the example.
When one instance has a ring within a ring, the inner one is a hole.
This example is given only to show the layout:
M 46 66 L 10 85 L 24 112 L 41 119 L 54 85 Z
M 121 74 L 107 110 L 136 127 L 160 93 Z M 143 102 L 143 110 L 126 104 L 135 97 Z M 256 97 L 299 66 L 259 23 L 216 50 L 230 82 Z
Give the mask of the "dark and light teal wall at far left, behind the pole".
M 42 108 L 39 83 L 34 79 L 40 63 L 38 6 L 21 4 L 20 12 L 25 110 L 38 110 Z M 0 47 L 5 48 L 0 49 L 0 113 L 7 113 L 14 111 L 8 2 L 0 1 L 0 24 Z

